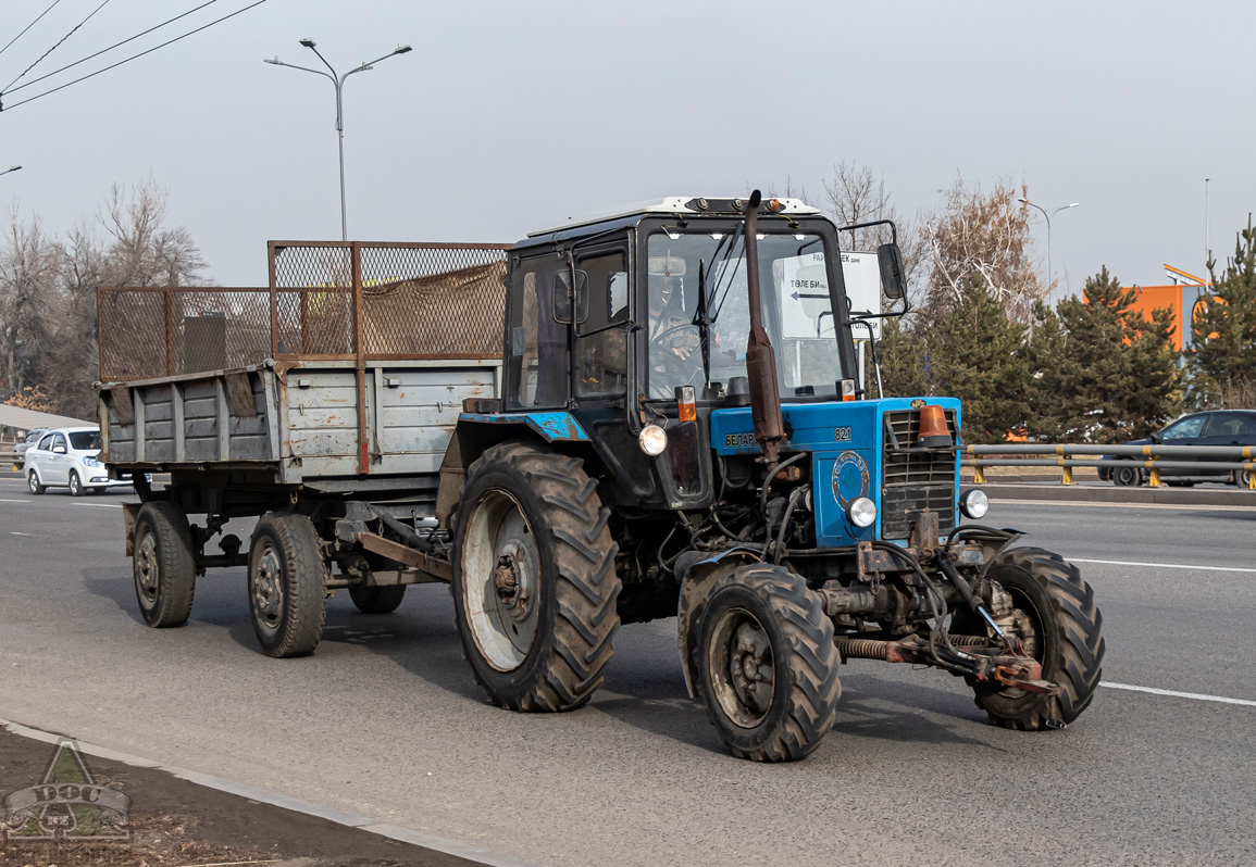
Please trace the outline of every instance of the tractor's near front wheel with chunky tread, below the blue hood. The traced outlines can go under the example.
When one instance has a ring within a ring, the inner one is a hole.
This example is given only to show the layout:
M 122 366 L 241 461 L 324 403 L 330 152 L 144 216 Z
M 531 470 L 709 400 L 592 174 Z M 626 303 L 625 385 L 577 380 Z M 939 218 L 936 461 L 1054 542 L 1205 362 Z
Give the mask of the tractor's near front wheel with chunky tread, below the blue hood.
M 734 755 L 791 762 L 836 716 L 842 684 L 833 621 L 800 575 L 751 563 L 718 578 L 698 621 L 698 683 Z

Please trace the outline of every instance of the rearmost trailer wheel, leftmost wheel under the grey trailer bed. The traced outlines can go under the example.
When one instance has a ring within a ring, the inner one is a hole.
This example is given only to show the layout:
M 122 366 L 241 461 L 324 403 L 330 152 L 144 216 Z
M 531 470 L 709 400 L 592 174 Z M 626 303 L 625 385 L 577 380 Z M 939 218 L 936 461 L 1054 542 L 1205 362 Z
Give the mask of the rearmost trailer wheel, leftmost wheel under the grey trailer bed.
M 132 551 L 136 600 L 144 622 L 154 629 L 186 624 L 196 595 L 196 562 L 183 509 L 167 499 L 144 503 L 136 516 Z

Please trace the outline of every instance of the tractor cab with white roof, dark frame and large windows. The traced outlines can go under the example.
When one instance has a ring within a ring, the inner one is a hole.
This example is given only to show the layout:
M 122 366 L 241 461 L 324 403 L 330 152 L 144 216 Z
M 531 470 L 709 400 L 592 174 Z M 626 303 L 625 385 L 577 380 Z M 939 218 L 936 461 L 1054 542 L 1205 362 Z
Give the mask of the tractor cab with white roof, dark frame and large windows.
M 614 478 L 612 502 L 706 508 L 717 493 L 712 414 L 749 418 L 751 403 L 746 206 L 669 197 L 545 227 L 511 250 L 500 413 L 587 442 Z M 857 396 L 836 227 L 775 198 L 754 241 L 780 402 Z M 756 450 L 740 432 L 721 443 Z

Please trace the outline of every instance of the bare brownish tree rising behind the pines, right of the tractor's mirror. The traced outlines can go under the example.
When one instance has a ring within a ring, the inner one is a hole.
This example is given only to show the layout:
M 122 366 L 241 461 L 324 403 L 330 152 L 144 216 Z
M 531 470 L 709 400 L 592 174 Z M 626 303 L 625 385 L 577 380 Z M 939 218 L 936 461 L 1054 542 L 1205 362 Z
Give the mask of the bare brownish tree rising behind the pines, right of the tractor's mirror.
M 1029 322 L 1034 301 L 1046 295 L 1030 256 L 1029 208 L 1024 184 L 1016 189 L 1000 181 L 990 193 L 980 183 L 971 187 L 957 177 L 942 191 L 942 208 L 927 222 L 922 237 L 928 245 L 931 279 L 926 317 L 938 319 L 961 296 L 965 286 L 985 286 L 1017 322 Z

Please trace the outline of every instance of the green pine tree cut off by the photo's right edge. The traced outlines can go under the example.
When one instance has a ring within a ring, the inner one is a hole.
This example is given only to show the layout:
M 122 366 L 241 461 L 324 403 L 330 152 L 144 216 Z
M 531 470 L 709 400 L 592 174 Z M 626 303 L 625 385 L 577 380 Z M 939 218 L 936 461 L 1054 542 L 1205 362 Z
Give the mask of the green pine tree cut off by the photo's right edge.
M 1218 280 L 1208 269 L 1212 299 L 1192 322 L 1194 349 L 1187 355 L 1191 398 L 1201 408 L 1256 407 L 1256 231 L 1251 215 L 1238 232 L 1235 256 Z

